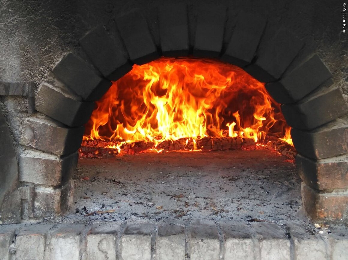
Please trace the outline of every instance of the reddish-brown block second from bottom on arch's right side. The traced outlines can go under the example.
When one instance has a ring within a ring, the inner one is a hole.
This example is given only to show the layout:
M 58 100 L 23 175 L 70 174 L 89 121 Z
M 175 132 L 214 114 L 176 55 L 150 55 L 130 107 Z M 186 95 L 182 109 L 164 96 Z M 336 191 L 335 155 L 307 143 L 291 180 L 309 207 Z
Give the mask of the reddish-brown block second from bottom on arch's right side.
M 348 188 L 348 155 L 314 161 L 299 154 L 296 165 L 301 179 L 313 189 Z

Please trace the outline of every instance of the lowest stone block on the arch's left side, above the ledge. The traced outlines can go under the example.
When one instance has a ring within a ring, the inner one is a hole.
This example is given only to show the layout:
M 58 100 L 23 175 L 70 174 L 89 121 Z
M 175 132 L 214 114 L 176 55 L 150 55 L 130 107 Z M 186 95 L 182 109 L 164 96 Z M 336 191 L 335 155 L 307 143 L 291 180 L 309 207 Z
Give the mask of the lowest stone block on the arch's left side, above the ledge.
M 52 217 L 64 214 L 72 204 L 73 191 L 73 180 L 57 189 L 35 188 L 35 217 Z

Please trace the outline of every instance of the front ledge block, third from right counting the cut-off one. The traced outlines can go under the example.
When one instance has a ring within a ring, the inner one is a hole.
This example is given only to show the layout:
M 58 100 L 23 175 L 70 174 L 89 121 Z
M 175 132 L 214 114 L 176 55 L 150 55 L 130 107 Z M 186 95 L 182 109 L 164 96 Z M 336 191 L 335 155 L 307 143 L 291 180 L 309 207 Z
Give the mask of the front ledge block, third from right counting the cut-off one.
M 253 222 L 256 239 L 260 242 L 262 260 L 290 260 L 290 241 L 274 223 Z

